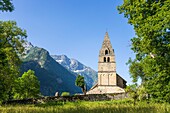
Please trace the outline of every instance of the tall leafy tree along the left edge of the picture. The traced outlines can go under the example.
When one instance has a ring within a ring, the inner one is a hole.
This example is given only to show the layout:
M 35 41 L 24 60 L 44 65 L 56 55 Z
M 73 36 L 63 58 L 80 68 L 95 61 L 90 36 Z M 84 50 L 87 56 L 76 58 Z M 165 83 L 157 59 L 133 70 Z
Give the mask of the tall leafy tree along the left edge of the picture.
M 15 80 L 19 76 L 22 43 L 26 32 L 16 22 L 0 21 L 0 101 L 12 99 Z

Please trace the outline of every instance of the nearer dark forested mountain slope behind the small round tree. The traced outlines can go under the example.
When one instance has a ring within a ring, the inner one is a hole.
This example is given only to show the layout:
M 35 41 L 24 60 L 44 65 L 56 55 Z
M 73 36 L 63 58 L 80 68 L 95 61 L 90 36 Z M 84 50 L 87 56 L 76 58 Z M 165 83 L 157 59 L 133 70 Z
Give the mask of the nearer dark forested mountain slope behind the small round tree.
M 22 58 L 22 72 L 32 69 L 40 81 L 41 93 L 51 96 L 55 92 L 70 92 L 71 94 L 81 92 L 75 86 L 75 75 L 57 63 L 43 48 L 30 47 Z

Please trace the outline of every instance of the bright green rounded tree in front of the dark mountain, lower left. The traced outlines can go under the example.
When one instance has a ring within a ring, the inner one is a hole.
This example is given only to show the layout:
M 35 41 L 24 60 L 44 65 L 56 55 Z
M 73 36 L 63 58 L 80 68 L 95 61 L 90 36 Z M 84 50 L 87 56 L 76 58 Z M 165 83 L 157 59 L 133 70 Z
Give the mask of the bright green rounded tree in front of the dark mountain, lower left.
M 14 98 L 34 98 L 40 94 L 40 83 L 35 76 L 34 71 L 24 72 L 22 77 L 16 81 Z

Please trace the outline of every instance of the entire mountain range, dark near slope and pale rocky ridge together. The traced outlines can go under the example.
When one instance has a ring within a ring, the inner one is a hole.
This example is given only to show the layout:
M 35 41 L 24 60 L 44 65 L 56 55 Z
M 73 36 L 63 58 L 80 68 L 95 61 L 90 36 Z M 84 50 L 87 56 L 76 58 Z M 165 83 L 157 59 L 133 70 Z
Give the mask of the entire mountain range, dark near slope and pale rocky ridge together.
M 97 81 L 97 72 L 74 58 L 50 55 L 44 48 L 33 46 L 28 41 L 23 46 L 25 55 L 21 58 L 23 61 L 21 72 L 29 69 L 35 71 L 43 95 L 52 96 L 55 92 L 61 94 L 65 91 L 71 94 L 81 93 L 80 88 L 75 86 L 78 74 L 84 76 L 87 90 Z

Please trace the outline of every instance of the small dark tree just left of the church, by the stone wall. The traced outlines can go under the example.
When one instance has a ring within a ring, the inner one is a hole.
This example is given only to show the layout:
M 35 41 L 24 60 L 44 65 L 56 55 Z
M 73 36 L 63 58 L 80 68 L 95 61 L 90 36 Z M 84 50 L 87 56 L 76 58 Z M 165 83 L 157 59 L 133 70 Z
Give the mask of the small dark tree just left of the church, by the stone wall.
M 86 95 L 86 85 L 85 85 L 84 77 L 81 75 L 78 75 L 76 78 L 75 84 L 76 86 L 80 87 L 84 95 Z

